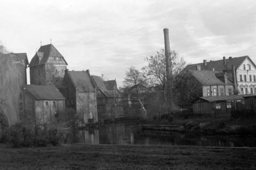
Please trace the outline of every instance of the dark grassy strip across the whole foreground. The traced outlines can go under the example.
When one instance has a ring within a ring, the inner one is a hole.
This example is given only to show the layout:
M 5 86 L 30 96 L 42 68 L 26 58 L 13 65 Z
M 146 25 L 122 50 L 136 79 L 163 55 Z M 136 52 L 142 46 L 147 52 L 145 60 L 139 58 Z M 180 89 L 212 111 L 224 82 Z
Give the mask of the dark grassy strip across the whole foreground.
M 0 169 L 256 169 L 256 149 L 67 145 L 7 148 Z

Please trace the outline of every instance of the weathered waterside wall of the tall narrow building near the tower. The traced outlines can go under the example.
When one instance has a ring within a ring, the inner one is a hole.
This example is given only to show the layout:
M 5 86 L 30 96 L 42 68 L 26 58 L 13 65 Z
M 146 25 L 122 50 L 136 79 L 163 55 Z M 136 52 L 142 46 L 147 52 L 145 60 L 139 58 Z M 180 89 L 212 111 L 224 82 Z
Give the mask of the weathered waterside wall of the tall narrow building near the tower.
M 82 124 L 98 122 L 95 92 L 76 92 L 76 112 Z

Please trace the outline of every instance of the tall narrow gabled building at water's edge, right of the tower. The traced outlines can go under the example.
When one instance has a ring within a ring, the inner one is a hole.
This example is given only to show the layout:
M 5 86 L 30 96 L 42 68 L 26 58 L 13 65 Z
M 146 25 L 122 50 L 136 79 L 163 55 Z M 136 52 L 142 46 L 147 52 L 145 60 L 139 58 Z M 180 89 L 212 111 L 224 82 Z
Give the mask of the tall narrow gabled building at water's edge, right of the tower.
M 80 125 L 97 123 L 97 97 L 89 70 L 66 70 L 63 84 L 62 94 L 67 98 L 67 106 L 75 109 Z

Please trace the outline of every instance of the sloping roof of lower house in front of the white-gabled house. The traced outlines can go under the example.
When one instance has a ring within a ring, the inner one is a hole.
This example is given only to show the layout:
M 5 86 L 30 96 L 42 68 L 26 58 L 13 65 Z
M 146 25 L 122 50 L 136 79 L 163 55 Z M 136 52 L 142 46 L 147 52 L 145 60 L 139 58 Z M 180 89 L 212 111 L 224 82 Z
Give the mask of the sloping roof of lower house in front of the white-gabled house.
M 202 85 L 221 85 L 225 82 L 221 81 L 217 76 L 222 75 L 220 71 L 209 70 L 188 70 Z M 233 84 L 227 80 L 227 84 Z

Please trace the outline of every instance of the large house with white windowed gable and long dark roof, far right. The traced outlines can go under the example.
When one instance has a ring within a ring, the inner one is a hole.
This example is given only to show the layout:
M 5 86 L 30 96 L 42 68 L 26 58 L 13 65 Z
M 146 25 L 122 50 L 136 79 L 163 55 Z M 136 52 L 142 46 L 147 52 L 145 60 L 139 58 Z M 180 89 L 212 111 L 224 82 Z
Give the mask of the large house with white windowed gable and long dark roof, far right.
M 215 70 L 226 72 L 229 79 L 235 83 L 235 93 L 255 94 L 256 93 L 256 66 L 249 56 L 223 57 L 222 60 L 190 64 L 186 70 Z

